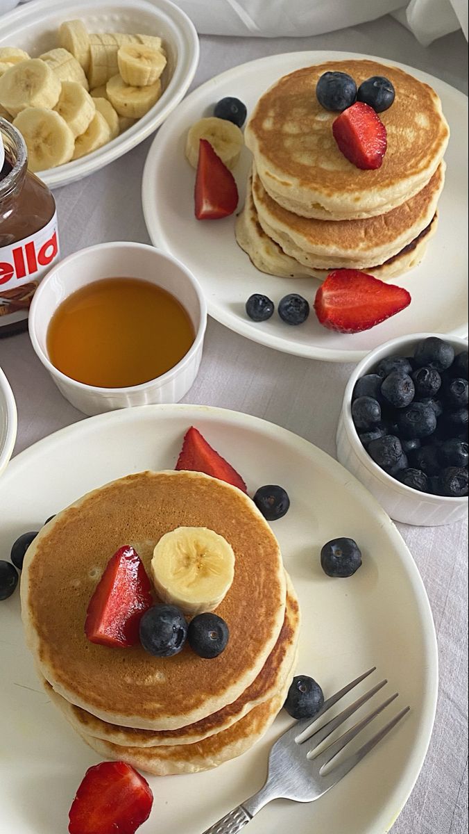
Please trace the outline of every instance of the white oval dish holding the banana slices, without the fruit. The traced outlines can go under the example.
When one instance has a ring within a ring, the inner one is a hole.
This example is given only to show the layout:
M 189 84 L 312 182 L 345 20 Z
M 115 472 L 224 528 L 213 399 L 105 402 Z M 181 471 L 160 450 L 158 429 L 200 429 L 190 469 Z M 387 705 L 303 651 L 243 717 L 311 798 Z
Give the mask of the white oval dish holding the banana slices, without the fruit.
M 167 50 L 164 92 L 148 113 L 121 136 L 81 159 L 39 173 L 49 188 L 59 188 L 121 157 L 147 138 L 187 92 L 197 69 L 199 43 L 192 22 L 169 0 L 37 0 L 0 18 L 0 46 L 25 49 L 32 58 L 59 46 L 57 28 L 81 18 L 88 32 L 159 35 Z

